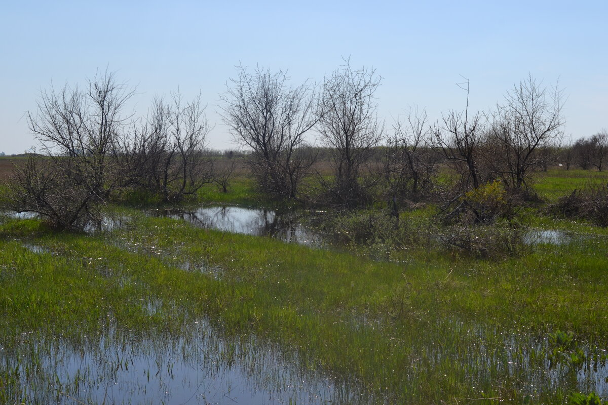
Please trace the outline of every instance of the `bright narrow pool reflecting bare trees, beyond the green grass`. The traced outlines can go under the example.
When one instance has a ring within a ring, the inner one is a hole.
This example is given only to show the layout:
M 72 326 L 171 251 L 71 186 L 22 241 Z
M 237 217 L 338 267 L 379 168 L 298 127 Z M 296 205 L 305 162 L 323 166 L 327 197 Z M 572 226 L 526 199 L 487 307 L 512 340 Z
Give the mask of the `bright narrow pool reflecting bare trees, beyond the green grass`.
M 302 225 L 297 211 L 274 211 L 265 208 L 239 206 L 208 206 L 192 210 L 156 209 L 154 216 L 182 219 L 201 228 L 215 229 L 254 236 L 269 236 L 285 242 L 319 247 L 322 238 Z

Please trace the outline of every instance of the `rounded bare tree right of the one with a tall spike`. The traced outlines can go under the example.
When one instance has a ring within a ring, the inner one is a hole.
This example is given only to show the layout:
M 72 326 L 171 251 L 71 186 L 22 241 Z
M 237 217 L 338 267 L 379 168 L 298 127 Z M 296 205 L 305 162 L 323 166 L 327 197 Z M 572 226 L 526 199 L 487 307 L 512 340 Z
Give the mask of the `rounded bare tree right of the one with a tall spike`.
M 550 149 L 562 135 L 562 91 L 551 92 L 531 75 L 506 93 L 489 128 L 492 170 L 508 188 L 528 188 L 531 174 L 547 161 L 540 149 Z

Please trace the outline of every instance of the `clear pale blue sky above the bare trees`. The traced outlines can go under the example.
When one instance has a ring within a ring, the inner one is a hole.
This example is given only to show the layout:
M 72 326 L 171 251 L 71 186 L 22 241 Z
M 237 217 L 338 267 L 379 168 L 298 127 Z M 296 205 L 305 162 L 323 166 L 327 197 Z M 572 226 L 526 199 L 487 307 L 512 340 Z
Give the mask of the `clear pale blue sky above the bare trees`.
M 38 145 L 26 113 L 40 92 L 116 72 L 137 94 L 201 92 L 215 149 L 237 148 L 218 115 L 235 66 L 322 82 L 350 57 L 375 69 L 390 128 L 410 106 L 430 120 L 489 111 L 532 75 L 567 97 L 566 135 L 608 128 L 608 1 L 7 1 L 0 2 L 0 151 Z M 311 141 L 314 141 L 311 138 Z

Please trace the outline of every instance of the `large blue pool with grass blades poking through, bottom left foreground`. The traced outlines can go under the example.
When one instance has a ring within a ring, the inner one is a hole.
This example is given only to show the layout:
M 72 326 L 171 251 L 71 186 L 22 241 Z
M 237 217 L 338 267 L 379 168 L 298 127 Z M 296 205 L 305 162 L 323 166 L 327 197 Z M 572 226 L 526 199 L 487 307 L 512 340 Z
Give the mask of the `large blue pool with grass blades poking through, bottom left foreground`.
M 157 310 L 157 303 L 145 305 Z M 112 329 L 83 344 L 28 339 L 13 350 L 0 349 L 2 366 L 21 379 L 21 385 L 5 390 L 15 402 L 24 397 L 58 404 L 370 401 L 347 383 L 305 370 L 296 356 L 285 358 L 277 347 L 254 336 L 221 338 L 206 321 L 185 325 L 179 337 Z

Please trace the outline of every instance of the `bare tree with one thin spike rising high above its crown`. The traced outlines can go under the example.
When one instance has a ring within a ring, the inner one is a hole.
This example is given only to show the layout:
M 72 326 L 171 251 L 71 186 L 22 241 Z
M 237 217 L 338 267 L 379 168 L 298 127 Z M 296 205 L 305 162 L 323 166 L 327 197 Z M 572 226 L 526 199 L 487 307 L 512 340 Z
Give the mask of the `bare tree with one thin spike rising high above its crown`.
M 458 84 L 466 91 L 465 111 L 449 111 L 431 129 L 434 146 L 440 149 L 461 177 L 461 191 L 469 184 L 478 188 L 481 183 L 479 160 L 485 140 L 485 126 L 479 112 L 469 116 L 469 80 Z

